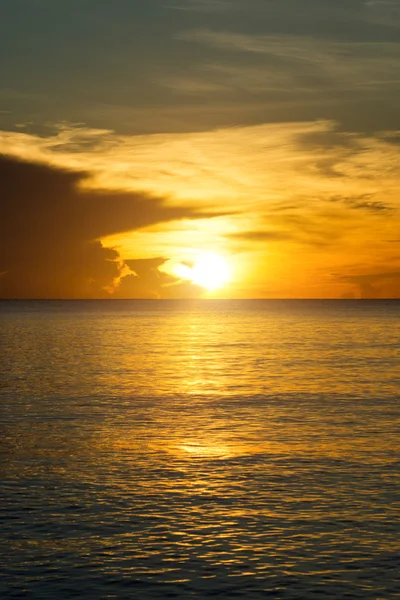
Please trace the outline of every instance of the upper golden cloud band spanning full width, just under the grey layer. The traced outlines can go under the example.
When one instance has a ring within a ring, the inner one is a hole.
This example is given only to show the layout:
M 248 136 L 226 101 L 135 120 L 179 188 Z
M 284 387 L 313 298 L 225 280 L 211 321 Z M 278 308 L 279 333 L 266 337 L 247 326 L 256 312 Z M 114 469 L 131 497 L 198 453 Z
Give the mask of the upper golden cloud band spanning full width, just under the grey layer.
M 46 137 L 3 131 L 0 152 L 83 169 L 88 176 L 77 182 L 80 188 L 145 190 L 168 206 L 189 205 L 216 217 L 302 196 L 373 194 L 383 202 L 384 193 L 385 205 L 396 204 L 400 148 L 394 138 L 394 132 L 342 132 L 328 121 L 135 136 L 60 124 Z

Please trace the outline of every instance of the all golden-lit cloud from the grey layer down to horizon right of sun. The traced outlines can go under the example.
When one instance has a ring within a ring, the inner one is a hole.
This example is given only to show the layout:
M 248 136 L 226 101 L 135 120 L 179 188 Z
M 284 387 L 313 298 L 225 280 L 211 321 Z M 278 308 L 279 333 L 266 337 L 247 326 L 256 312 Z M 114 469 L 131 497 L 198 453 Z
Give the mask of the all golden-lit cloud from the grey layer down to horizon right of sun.
M 127 136 L 61 124 L 47 137 L 3 132 L 0 151 L 84 170 L 85 189 L 206 210 L 101 241 L 126 259 L 182 261 L 193 248 L 234 255 L 232 295 L 337 295 L 357 281 L 346 279 L 354 256 L 373 272 L 384 257 L 397 272 L 388 242 L 400 208 L 394 132 L 343 133 L 317 121 Z

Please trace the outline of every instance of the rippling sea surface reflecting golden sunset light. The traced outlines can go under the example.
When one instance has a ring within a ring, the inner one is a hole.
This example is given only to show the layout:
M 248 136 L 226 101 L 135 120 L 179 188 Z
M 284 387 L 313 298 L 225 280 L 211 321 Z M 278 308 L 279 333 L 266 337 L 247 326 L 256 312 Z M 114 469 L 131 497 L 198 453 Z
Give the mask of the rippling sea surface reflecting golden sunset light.
M 400 598 L 399 301 L 0 302 L 0 598 Z

